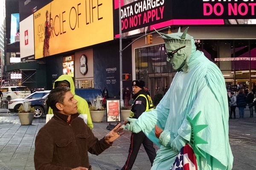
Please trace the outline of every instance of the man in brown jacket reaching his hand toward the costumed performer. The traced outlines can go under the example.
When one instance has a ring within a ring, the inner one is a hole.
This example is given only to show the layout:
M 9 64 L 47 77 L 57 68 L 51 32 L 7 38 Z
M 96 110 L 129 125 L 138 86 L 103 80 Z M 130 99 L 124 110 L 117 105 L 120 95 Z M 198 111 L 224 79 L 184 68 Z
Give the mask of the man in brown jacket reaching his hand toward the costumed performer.
M 69 87 L 57 87 L 48 95 L 53 118 L 35 139 L 35 170 L 88 170 L 88 153 L 99 155 L 124 132 L 118 124 L 98 140 L 79 118 L 77 101 Z

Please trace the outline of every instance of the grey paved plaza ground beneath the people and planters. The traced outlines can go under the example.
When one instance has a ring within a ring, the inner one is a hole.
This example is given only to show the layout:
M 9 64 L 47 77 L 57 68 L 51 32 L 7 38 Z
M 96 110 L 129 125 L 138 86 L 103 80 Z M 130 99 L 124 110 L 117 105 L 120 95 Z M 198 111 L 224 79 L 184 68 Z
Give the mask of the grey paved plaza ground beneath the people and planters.
M 238 109 L 236 110 L 238 117 Z M 230 119 L 229 137 L 234 155 L 233 170 L 256 170 L 256 118 Z M 256 117 L 256 116 L 255 116 Z M 21 126 L 17 114 L 0 113 L 0 170 L 34 170 L 35 136 L 45 124 L 45 118 L 34 119 L 32 125 Z M 108 123 L 94 123 L 93 133 L 103 138 L 109 131 Z M 121 169 L 127 156 L 130 133 L 127 132 L 99 156 L 91 155 L 93 170 Z M 156 147 L 157 149 L 157 147 Z M 149 170 L 150 161 L 143 147 L 137 156 L 133 170 Z

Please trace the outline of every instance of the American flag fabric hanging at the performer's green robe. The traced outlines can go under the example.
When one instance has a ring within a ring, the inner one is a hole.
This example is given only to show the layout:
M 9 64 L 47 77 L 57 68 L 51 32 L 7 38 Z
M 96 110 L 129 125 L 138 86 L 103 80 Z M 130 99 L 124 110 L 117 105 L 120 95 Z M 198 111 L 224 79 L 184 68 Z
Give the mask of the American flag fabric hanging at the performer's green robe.
M 171 170 L 197 170 L 197 162 L 195 153 L 188 144 L 181 148 L 180 153 L 176 157 Z

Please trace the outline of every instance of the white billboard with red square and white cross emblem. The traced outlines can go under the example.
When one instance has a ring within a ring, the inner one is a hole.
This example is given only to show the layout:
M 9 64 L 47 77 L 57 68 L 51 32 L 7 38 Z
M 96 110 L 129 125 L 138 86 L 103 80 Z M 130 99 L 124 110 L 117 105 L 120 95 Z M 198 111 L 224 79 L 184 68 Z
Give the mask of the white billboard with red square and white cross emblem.
M 35 54 L 33 22 L 33 15 L 20 21 L 20 58 Z

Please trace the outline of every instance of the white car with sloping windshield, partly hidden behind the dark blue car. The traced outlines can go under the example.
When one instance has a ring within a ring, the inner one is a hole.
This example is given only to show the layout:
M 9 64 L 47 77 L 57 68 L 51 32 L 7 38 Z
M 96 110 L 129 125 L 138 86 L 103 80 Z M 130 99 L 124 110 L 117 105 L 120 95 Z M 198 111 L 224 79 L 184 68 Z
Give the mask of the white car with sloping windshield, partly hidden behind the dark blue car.
M 45 95 L 49 94 L 49 92 L 50 92 L 50 90 L 33 92 L 32 94 L 28 95 L 26 98 L 13 99 L 9 102 L 9 110 L 11 112 L 18 112 L 18 108 L 24 101 L 26 101 L 28 99 L 43 98 Z

